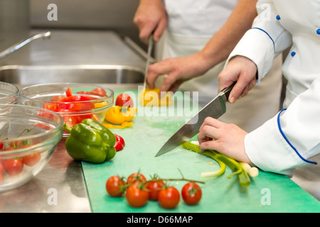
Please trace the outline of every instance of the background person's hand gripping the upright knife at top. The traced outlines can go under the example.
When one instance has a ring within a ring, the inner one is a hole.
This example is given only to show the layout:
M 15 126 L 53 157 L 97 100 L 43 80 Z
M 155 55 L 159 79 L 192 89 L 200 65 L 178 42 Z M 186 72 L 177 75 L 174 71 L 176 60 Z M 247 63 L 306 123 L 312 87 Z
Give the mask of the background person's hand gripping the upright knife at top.
M 134 23 L 139 28 L 139 38 L 148 44 L 149 35 L 154 31 L 154 41 L 158 42 L 167 25 L 166 9 L 161 0 L 140 0 L 134 15 Z

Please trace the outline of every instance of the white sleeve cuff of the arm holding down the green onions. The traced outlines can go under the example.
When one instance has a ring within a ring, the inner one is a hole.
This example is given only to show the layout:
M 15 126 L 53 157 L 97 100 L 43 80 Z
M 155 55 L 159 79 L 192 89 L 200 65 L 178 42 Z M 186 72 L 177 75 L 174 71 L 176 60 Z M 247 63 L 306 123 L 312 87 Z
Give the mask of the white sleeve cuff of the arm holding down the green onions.
M 245 136 L 245 152 L 261 170 L 292 177 L 295 167 L 304 167 L 310 163 L 299 157 L 284 139 L 277 118 L 274 116 Z

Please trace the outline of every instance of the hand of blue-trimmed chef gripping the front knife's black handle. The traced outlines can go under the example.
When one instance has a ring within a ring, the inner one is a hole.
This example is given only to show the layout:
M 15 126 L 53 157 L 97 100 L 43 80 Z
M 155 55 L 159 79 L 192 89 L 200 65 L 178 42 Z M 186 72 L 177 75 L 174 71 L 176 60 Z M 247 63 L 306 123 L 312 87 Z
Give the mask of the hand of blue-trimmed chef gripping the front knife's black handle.
M 241 96 L 247 95 L 256 83 L 257 66 L 252 60 L 243 56 L 233 57 L 225 69 L 218 75 L 220 92 L 237 82 L 229 95 L 229 101 L 234 103 Z

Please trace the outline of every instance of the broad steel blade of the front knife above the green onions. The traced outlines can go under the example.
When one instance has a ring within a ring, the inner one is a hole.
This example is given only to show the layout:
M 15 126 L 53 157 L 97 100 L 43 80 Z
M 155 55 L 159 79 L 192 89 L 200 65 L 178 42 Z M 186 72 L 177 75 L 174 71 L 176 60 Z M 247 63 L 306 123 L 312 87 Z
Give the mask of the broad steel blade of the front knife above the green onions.
M 225 103 L 228 100 L 229 94 L 234 85 L 235 83 L 219 92 L 218 95 L 210 101 L 210 103 L 198 112 L 198 114 L 193 116 L 193 118 L 179 128 L 178 131 L 176 131 L 176 133 L 174 133 L 174 135 L 164 143 L 158 153 L 156 153 L 155 157 L 168 153 L 170 150 L 177 148 L 179 145 L 199 133 L 199 128 L 206 117 L 211 116 L 213 118 L 219 118 L 222 116 L 226 111 Z

